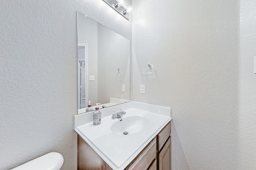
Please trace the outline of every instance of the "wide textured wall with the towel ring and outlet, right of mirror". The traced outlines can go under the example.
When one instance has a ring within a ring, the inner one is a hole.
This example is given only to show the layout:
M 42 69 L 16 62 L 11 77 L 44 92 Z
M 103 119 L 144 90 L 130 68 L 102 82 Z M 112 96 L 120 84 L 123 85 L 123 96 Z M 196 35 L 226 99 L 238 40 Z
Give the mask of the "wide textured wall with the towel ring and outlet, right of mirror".
M 132 100 L 172 107 L 172 169 L 239 169 L 240 2 L 133 7 Z M 142 73 L 147 63 L 155 74 Z

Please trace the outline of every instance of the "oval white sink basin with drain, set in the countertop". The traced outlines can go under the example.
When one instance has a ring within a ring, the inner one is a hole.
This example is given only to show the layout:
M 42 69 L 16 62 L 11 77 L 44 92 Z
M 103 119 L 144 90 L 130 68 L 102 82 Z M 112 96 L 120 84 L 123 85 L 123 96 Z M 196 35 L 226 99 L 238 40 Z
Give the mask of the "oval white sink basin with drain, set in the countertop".
M 144 131 L 149 126 L 149 120 L 141 115 L 134 115 L 130 117 L 119 118 L 120 120 L 115 122 L 111 126 L 111 131 L 117 135 L 131 135 L 141 131 Z

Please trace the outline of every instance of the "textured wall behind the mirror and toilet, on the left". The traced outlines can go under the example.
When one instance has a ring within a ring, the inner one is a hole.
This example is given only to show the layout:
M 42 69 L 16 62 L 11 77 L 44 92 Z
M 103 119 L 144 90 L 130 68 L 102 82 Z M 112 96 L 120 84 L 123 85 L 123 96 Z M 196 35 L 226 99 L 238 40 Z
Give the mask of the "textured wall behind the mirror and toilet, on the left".
M 76 12 L 129 39 L 131 22 L 102 0 L 2 0 L 0 8 L 0 169 L 57 151 L 63 170 L 74 170 Z

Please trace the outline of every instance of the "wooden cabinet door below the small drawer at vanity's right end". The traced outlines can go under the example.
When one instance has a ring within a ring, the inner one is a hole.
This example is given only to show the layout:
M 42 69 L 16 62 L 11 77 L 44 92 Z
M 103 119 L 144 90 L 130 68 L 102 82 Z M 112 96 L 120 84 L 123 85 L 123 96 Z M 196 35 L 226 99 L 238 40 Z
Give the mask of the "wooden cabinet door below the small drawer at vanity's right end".
M 158 152 L 158 170 L 171 170 L 171 137 Z

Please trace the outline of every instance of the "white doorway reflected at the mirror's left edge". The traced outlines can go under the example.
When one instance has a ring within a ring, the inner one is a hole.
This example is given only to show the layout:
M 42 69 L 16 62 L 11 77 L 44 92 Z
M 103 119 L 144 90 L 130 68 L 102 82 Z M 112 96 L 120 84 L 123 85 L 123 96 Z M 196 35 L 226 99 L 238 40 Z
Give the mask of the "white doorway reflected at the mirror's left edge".
M 78 44 L 78 109 L 86 107 L 86 45 Z

